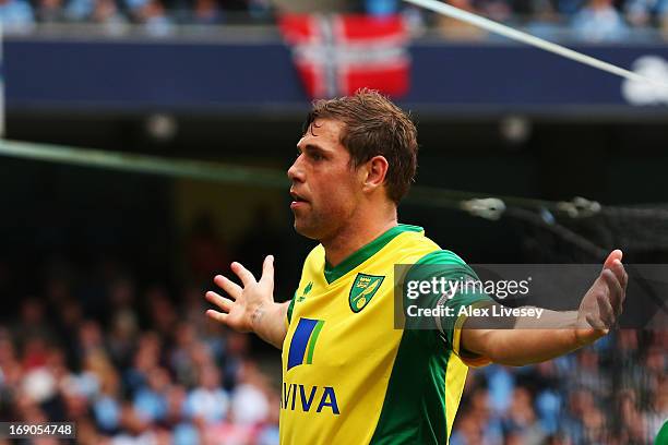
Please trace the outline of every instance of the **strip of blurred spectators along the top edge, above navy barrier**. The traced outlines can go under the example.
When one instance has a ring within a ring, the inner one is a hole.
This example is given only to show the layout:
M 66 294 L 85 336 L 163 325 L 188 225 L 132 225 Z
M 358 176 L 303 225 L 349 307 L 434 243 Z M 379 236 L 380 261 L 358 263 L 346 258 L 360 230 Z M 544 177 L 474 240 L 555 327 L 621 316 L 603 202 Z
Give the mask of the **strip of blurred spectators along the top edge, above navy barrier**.
M 479 28 L 428 13 L 401 0 L 330 0 L 329 3 L 332 1 L 341 12 L 380 17 L 402 13 L 414 34 L 433 28 L 451 38 L 487 37 Z M 628 41 L 656 38 L 657 31 L 668 34 L 668 0 L 448 2 L 550 38 Z M 37 24 L 53 23 L 96 24 L 108 32 L 122 33 L 128 25 L 135 24 L 150 35 L 167 36 L 175 33 L 177 25 L 271 24 L 282 13 L 282 4 L 272 0 L 0 0 L 0 24 L 10 33 L 26 33 Z

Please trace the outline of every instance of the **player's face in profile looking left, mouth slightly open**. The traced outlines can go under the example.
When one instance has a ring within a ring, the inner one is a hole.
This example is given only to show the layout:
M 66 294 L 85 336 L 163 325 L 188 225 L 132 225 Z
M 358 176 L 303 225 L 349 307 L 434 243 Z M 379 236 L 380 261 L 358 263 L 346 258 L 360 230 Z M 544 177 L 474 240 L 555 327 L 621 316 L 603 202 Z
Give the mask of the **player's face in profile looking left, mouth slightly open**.
M 343 128 L 339 121 L 317 119 L 297 144 L 297 159 L 287 172 L 295 229 L 311 239 L 334 237 L 361 197 L 359 171 L 341 144 Z

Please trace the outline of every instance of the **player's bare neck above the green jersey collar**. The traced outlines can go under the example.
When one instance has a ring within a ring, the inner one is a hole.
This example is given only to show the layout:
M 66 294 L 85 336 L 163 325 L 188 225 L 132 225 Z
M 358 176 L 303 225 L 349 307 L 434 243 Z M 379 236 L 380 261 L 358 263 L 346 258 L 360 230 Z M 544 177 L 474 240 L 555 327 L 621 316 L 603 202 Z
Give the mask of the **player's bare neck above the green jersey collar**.
M 355 218 L 354 220 L 359 220 L 361 224 L 347 225 L 332 239 L 321 240 L 325 249 L 325 258 L 330 265 L 337 266 L 350 254 L 397 226 L 396 212 L 386 218 L 379 218 L 374 221 L 365 221 L 363 218 Z

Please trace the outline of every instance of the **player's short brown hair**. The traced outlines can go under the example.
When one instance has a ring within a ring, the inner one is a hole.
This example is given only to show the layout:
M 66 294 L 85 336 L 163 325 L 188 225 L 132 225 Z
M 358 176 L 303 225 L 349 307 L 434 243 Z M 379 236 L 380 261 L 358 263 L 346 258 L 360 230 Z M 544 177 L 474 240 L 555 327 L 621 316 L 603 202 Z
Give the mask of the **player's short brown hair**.
M 363 88 L 354 96 L 314 101 L 303 124 L 305 134 L 312 131 L 317 119 L 344 123 L 341 143 L 355 168 L 373 156 L 387 159 L 387 196 L 398 204 L 417 169 L 417 130 L 410 117 L 380 93 Z

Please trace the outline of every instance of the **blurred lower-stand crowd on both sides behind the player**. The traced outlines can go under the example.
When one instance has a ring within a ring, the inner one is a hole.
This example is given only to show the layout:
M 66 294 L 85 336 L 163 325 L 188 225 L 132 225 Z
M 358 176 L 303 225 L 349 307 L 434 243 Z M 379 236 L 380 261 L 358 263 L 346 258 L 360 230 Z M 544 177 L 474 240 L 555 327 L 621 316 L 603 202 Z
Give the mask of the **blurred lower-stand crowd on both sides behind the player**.
M 232 258 L 259 270 L 289 256 L 269 219 L 259 211 L 229 248 L 199 218 L 186 285 L 131 260 L 53 257 L 21 292 L 0 262 L 0 420 L 75 422 L 81 444 L 277 444 L 278 352 L 207 321 L 203 299 Z M 291 286 L 277 276 L 277 293 Z M 648 444 L 668 419 L 667 350 L 668 332 L 619 330 L 539 365 L 475 370 L 451 444 Z

